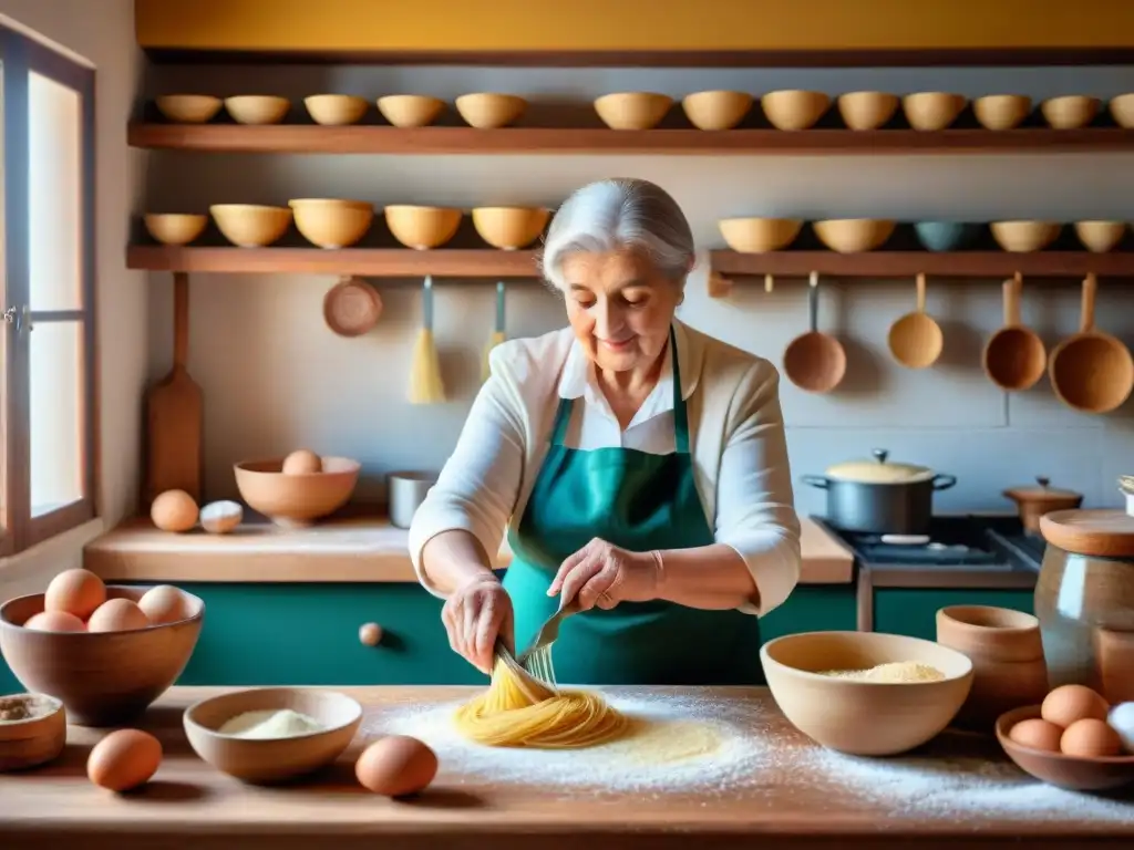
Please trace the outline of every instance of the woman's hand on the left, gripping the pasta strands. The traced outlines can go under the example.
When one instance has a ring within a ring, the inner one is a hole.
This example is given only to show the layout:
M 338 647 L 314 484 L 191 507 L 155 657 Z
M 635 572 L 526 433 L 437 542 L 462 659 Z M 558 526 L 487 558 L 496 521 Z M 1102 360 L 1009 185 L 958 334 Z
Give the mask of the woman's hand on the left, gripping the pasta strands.
M 450 594 L 441 622 L 454 652 L 488 675 L 492 674 L 497 637 L 513 648 L 511 598 L 492 573 L 476 576 Z

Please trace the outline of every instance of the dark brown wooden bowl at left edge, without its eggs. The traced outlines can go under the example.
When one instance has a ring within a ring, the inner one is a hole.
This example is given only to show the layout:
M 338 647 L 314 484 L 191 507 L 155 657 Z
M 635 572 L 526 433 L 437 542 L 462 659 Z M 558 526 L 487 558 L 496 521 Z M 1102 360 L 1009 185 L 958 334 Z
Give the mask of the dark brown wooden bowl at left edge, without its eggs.
M 107 598 L 136 602 L 149 589 L 109 585 Z M 187 620 L 107 632 L 25 629 L 43 611 L 43 594 L 17 596 L 0 606 L 0 654 L 25 688 L 59 699 L 71 723 L 121 725 L 164 694 L 193 655 L 205 605 L 185 595 L 194 612 Z

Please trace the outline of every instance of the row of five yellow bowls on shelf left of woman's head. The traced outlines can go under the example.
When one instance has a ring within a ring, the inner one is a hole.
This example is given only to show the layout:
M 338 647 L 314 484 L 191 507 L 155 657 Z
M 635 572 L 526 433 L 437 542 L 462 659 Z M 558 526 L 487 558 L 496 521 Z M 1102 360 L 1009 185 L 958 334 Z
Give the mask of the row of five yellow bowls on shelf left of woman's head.
M 345 248 L 362 239 L 374 220 L 374 205 L 341 198 L 297 198 L 287 206 L 213 204 L 217 228 L 234 245 L 259 248 L 278 241 L 295 221 L 296 229 L 320 248 Z M 448 243 L 460 227 L 464 211 L 451 206 L 392 205 L 383 209 L 393 238 L 423 250 Z M 538 206 L 477 206 L 472 211 L 476 232 L 489 245 L 516 250 L 531 245 L 547 227 L 551 211 Z M 163 245 L 188 245 L 209 220 L 196 213 L 150 213 L 143 216 L 150 235 Z

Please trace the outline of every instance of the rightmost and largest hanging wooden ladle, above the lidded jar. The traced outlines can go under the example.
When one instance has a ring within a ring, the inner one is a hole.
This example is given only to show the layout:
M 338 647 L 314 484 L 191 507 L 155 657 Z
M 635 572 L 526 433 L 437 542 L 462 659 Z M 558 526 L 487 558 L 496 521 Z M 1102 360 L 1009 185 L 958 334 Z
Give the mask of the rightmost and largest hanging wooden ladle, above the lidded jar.
M 1106 414 L 1120 407 L 1134 389 L 1134 358 L 1129 349 L 1109 333 L 1094 329 L 1094 292 L 1098 281 L 1083 281 L 1083 314 L 1078 333 L 1060 342 L 1048 363 L 1048 377 L 1056 396 L 1068 407 Z

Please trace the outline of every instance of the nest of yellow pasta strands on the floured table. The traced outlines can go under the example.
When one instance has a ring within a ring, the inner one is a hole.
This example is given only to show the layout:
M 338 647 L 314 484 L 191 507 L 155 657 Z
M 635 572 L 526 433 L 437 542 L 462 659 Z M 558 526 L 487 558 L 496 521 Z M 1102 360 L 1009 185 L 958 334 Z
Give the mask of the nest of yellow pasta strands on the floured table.
M 497 658 L 489 689 L 457 709 L 457 730 L 490 747 L 578 749 L 606 743 L 629 729 L 598 694 L 559 691 L 522 679 Z

